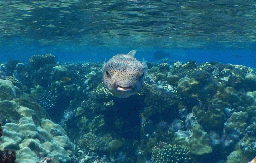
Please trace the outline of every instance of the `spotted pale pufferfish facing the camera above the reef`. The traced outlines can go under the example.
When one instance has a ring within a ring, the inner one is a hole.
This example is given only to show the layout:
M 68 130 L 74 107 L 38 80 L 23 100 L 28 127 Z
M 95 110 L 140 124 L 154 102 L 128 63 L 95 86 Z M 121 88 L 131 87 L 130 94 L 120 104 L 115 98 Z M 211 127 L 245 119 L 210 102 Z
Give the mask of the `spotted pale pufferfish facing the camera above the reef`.
M 137 93 L 143 85 L 147 66 L 134 58 L 135 54 L 136 50 L 117 54 L 103 65 L 102 81 L 119 98 Z

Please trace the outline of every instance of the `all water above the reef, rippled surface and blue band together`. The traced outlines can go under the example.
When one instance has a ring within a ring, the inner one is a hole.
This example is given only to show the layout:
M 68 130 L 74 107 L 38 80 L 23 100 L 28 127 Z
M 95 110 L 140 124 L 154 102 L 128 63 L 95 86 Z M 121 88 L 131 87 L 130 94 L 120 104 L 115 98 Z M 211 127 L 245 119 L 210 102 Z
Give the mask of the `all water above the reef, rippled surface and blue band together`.
M 137 49 L 173 59 L 254 65 L 255 1 L 0 2 L 1 60 L 54 53 L 59 60 L 99 60 Z M 197 51 L 199 50 L 199 51 Z M 70 57 L 70 54 L 74 57 Z

